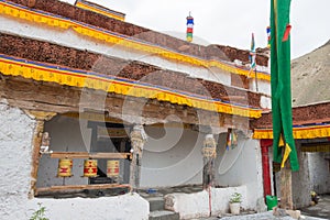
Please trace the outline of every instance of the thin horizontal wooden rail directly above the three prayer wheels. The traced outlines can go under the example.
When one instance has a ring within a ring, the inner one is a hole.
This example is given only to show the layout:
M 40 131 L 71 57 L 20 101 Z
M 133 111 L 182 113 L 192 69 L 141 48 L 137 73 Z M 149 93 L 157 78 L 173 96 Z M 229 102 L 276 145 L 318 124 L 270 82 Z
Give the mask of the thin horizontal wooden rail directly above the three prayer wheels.
M 51 158 L 130 158 L 132 153 L 54 152 Z

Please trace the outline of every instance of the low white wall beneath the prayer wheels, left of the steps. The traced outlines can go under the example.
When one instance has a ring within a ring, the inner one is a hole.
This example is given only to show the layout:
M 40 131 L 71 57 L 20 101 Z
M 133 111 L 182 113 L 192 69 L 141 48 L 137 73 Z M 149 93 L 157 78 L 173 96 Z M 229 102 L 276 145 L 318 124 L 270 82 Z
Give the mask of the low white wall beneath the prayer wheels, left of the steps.
M 150 213 L 148 202 L 138 194 L 100 198 L 33 199 L 28 204 L 29 217 L 37 209 L 37 202 L 46 208 L 45 213 L 50 220 L 147 220 Z

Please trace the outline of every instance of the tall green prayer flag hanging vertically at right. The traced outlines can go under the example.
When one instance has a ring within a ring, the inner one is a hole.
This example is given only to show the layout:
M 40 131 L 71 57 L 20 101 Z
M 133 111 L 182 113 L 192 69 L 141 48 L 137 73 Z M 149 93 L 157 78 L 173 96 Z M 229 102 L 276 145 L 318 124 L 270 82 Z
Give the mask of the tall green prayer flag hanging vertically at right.
M 273 154 L 274 161 L 280 163 L 283 152 L 287 148 L 292 170 L 298 170 L 299 163 L 293 135 L 290 90 L 290 38 L 288 36 L 290 0 L 271 0 L 271 2 Z M 289 147 L 279 146 L 280 135 Z

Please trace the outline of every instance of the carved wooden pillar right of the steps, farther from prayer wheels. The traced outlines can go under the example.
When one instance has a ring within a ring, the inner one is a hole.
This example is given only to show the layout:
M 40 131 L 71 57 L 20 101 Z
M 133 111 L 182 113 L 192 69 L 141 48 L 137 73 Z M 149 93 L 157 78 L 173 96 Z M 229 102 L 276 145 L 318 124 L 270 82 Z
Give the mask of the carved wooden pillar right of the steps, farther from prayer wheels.
M 202 146 L 202 188 L 207 189 L 215 185 L 215 161 L 217 157 L 217 143 L 213 134 L 207 134 Z

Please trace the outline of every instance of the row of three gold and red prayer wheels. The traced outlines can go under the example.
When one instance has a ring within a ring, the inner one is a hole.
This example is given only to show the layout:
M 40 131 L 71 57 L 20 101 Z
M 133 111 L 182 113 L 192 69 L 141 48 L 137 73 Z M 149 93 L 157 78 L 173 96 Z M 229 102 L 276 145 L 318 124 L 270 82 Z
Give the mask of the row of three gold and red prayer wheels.
M 73 160 L 72 158 L 59 158 L 58 160 L 58 177 L 70 177 L 73 176 Z M 84 162 L 84 177 L 97 177 L 98 176 L 98 161 L 97 160 L 85 160 Z M 119 161 L 107 162 L 107 176 L 118 177 L 119 176 Z

